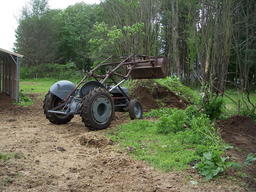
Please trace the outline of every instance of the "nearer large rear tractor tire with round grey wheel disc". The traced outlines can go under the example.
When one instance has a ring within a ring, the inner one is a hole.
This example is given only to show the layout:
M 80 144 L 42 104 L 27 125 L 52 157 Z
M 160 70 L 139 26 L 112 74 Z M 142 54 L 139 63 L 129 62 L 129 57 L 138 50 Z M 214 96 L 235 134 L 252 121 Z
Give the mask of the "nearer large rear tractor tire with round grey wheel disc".
M 114 102 L 106 89 L 95 87 L 89 90 L 81 102 L 82 122 L 92 130 L 105 129 L 114 115 Z

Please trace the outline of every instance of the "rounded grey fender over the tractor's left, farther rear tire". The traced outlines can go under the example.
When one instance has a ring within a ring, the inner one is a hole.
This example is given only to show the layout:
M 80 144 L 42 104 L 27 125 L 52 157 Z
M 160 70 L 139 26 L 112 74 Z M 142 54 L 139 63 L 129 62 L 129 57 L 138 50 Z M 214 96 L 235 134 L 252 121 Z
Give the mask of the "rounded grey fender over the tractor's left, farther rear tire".
M 57 97 L 60 97 L 60 99 L 64 100 L 68 94 L 76 87 L 74 83 L 71 81 L 58 81 L 57 83 L 54 83 L 50 91 Z M 71 96 L 77 95 L 76 92 L 74 92 Z

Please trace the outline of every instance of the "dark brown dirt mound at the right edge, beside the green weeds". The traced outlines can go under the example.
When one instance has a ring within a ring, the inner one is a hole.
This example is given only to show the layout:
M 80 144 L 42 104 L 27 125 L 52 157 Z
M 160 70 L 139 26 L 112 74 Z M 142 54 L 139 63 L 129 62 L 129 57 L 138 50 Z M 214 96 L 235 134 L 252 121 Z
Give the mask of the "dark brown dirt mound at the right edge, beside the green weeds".
M 256 122 L 248 116 L 235 115 L 224 121 L 215 121 L 215 124 L 220 128 L 224 142 L 234 146 L 227 150 L 226 155 L 231 157 L 231 160 L 242 164 L 242 172 L 251 176 L 241 179 L 256 188 L 256 181 L 253 179 L 256 178 L 256 163 L 253 162 L 252 166 L 244 165 L 247 155 L 256 153 Z M 232 157 L 235 158 L 232 159 Z M 237 177 L 235 173 L 233 176 Z

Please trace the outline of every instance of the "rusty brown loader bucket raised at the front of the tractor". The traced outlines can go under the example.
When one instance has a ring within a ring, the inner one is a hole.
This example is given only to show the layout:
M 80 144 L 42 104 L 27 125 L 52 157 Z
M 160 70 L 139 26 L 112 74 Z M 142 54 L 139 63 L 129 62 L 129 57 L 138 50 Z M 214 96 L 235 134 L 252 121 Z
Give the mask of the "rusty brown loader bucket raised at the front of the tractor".
M 147 60 L 147 58 L 145 58 Z M 166 77 L 167 64 L 170 61 L 167 57 L 156 57 L 154 61 L 148 63 L 137 63 L 132 68 L 128 65 L 128 72 L 131 70 L 131 79 L 162 79 Z

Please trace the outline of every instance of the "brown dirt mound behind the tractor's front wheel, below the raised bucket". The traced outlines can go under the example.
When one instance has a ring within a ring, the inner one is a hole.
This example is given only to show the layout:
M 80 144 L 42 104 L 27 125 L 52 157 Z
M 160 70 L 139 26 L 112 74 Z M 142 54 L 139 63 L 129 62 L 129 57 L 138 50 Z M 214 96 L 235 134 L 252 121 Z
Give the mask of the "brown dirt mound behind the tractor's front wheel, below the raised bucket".
M 143 111 L 164 107 L 185 109 L 190 105 L 188 101 L 171 92 L 155 80 L 138 80 L 136 84 L 137 86 L 132 90 L 130 98 L 140 100 Z

